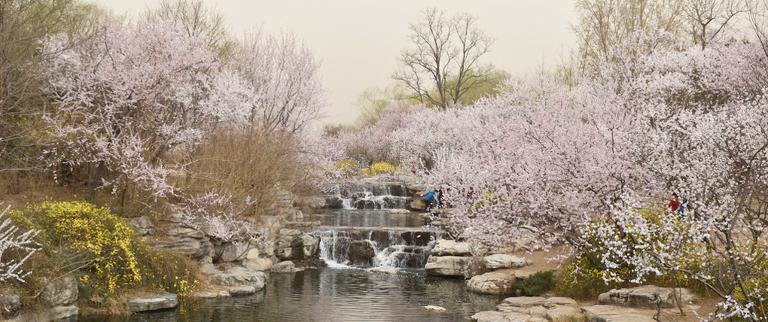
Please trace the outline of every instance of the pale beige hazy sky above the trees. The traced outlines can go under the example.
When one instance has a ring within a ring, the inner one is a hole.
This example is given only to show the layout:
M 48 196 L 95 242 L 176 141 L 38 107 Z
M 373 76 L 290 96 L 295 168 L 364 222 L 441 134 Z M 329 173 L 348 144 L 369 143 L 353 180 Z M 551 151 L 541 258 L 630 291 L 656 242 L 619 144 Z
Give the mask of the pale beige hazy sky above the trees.
M 115 13 L 135 14 L 158 0 L 95 0 Z M 573 48 L 574 0 L 206 0 L 235 35 L 254 26 L 290 32 L 321 62 L 327 106 L 321 122 L 351 122 L 367 88 L 393 83 L 408 46 L 408 25 L 438 7 L 468 12 L 495 43 L 486 57 L 512 74 L 558 63 Z

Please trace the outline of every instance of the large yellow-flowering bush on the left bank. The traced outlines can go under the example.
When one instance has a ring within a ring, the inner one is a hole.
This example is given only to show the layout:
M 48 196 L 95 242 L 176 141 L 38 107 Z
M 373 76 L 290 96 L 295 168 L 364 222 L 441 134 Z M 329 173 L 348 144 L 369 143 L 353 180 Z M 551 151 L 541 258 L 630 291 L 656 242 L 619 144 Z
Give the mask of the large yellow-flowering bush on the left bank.
M 38 241 L 45 252 L 66 253 L 69 260 L 61 264 L 80 268 L 81 284 L 92 291 L 109 295 L 141 282 L 136 236 L 108 208 L 86 202 L 42 202 L 11 216 L 41 231 Z

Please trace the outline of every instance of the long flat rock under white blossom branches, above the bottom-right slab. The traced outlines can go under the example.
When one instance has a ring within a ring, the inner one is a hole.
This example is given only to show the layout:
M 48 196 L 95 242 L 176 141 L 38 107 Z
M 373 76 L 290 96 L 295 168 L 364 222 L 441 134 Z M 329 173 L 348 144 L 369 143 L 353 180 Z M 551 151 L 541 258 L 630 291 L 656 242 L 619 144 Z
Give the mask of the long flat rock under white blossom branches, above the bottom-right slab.
M 622 305 L 636 308 L 655 309 L 659 302 L 661 307 L 676 307 L 675 290 L 668 287 L 644 285 L 634 288 L 615 289 L 600 294 L 597 298 L 599 304 Z M 696 301 L 696 297 L 688 289 L 677 289 L 677 295 L 683 304 Z

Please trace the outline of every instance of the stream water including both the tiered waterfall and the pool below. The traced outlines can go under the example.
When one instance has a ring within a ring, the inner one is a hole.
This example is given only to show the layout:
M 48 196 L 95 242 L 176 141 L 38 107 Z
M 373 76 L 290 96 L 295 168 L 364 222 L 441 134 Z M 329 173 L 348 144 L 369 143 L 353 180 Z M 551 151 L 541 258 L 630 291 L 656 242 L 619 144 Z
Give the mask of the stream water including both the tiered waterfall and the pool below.
M 392 191 L 400 193 L 391 195 Z M 405 209 L 404 188 L 385 186 L 349 194 L 338 202 L 339 209 L 305 218 L 320 223 L 312 234 L 320 238 L 319 257 L 327 266 L 270 274 L 265 289 L 252 296 L 187 300 L 176 310 L 128 319 L 468 321 L 478 311 L 495 309 L 501 298 L 470 293 L 460 278 L 425 273 L 429 251 L 442 233 L 424 228 L 423 217 Z M 398 272 L 370 271 L 373 267 L 396 267 Z M 446 311 L 430 311 L 425 305 Z

